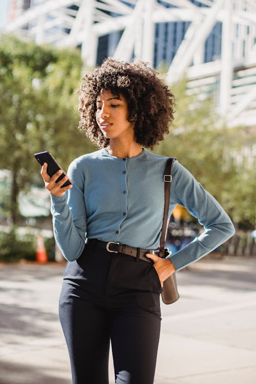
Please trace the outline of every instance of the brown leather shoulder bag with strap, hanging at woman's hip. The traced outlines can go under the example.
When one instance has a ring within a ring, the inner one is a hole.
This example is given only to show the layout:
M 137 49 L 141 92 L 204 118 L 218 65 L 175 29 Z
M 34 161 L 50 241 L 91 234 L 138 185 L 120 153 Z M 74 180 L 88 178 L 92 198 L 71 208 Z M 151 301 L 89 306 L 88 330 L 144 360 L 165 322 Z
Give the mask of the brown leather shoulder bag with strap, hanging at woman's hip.
M 165 258 L 169 254 L 169 250 L 164 248 L 164 243 L 167 234 L 167 228 L 169 224 L 168 220 L 168 209 L 169 209 L 169 196 L 170 196 L 170 183 L 172 182 L 172 166 L 173 162 L 176 160 L 175 157 L 169 157 L 166 162 L 165 174 L 163 177 L 164 180 L 164 214 L 163 214 L 163 225 L 162 233 L 160 238 L 160 248 L 159 248 L 159 257 Z M 177 281 L 176 281 L 176 272 L 171 274 L 163 282 L 163 291 L 162 291 L 162 301 L 164 304 L 172 304 L 178 300 L 180 297 Z

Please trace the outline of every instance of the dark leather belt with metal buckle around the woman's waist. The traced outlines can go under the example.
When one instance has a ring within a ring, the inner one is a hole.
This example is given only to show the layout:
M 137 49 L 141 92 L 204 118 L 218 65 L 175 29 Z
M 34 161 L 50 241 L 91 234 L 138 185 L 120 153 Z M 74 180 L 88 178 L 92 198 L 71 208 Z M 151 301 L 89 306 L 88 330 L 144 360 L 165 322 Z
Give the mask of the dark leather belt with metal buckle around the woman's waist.
M 154 253 L 155 251 L 153 249 L 130 247 L 129 245 L 115 243 L 114 241 L 106 242 L 98 239 L 88 239 L 87 243 L 93 243 L 97 247 L 106 249 L 109 252 L 124 253 L 132 256 L 133 258 L 136 258 L 137 260 L 140 259 L 146 261 L 147 263 L 153 264 L 153 261 L 145 256 L 146 253 Z

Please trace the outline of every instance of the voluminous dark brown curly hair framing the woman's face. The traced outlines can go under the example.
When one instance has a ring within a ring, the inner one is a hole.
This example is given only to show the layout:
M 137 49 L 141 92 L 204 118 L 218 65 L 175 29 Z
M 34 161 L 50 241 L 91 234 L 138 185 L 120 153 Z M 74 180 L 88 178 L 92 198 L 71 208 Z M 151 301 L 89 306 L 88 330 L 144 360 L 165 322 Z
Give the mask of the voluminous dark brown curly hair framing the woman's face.
M 122 94 L 128 104 L 127 120 L 135 122 L 136 141 L 146 148 L 163 140 L 174 119 L 174 95 L 148 63 L 105 59 L 100 67 L 83 76 L 79 94 L 79 129 L 98 147 L 109 145 L 96 123 L 96 99 L 102 90 Z

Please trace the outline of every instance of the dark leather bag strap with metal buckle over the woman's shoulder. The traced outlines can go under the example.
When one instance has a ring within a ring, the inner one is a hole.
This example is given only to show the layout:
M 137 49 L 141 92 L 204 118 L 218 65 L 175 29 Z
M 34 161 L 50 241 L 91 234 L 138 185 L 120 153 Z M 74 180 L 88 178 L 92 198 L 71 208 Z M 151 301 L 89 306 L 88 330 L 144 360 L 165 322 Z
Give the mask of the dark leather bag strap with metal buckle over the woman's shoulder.
M 160 238 L 160 248 L 159 248 L 159 257 L 165 257 L 164 243 L 167 234 L 167 228 L 169 224 L 168 220 L 168 210 L 169 210 L 169 198 L 170 198 L 170 183 L 172 181 L 172 167 L 173 162 L 176 160 L 175 157 L 169 157 L 166 162 L 165 172 L 163 176 L 164 181 L 164 212 L 163 212 L 163 225 Z

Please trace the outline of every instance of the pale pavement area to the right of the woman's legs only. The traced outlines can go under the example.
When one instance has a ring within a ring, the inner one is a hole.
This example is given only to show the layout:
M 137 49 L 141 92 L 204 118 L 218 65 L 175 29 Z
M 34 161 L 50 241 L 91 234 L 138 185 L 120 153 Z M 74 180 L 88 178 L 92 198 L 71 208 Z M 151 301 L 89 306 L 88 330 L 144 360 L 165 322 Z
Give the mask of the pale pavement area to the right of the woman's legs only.
M 255 384 L 256 259 L 205 258 L 178 282 L 180 301 L 162 308 L 156 383 Z

